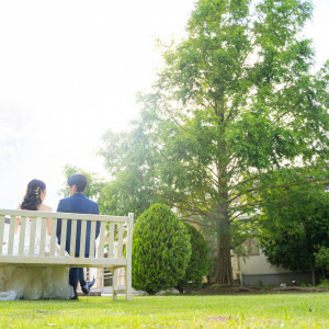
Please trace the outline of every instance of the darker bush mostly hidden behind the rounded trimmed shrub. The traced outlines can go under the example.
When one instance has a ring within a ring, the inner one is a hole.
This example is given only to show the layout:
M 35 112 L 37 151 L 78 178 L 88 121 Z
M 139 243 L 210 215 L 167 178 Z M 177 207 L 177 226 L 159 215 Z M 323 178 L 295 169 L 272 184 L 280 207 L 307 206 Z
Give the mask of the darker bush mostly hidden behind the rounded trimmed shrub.
M 192 254 L 184 276 L 178 282 L 177 288 L 183 293 L 185 288 L 198 288 L 209 269 L 208 248 L 202 234 L 192 225 L 185 224 L 192 247 Z

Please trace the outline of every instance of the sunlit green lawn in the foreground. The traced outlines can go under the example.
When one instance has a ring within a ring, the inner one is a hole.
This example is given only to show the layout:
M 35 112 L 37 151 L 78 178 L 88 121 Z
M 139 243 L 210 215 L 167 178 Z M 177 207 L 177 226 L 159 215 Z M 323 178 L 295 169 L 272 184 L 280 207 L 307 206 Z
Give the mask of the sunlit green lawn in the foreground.
M 329 293 L 0 302 L 1 328 L 329 328 Z

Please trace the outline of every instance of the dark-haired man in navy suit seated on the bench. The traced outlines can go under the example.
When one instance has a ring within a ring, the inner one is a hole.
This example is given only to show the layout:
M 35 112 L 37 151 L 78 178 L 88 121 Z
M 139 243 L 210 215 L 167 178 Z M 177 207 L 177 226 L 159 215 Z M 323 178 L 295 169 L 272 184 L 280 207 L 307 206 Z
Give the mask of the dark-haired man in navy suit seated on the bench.
M 68 189 L 70 192 L 69 197 L 65 197 L 59 201 L 57 212 L 58 213 L 78 213 L 78 214 L 100 214 L 99 205 L 84 196 L 83 191 L 87 186 L 87 178 L 83 174 L 72 174 L 67 180 Z M 61 219 L 57 220 L 57 230 L 56 236 L 58 238 L 58 243 L 60 243 L 61 232 Z M 95 238 L 100 234 L 100 223 L 97 224 Z M 87 222 L 87 231 L 86 231 L 86 249 L 84 257 L 89 257 L 90 250 L 90 235 L 91 235 L 91 222 Z M 79 257 L 80 253 L 80 239 L 81 239 L 81 220 L 77 222 L 77 235 L 76 235 L 76 252 L 75 256 Z M 67 235 L 66 235 L 66 251 L 70 252 L 71 243 L 71 220 L 67 222 Z M 75 297 L 77 296 L 77 285 L 78 281 L 82 292 L 87 295 L 90 292 L 90 287 L 94 284 L 94 280 L 91 282 L 86 282 L 83 277 L 83 269 L 81 268 L 71 268 L 69 272 L 69 283 L 73 287 Z

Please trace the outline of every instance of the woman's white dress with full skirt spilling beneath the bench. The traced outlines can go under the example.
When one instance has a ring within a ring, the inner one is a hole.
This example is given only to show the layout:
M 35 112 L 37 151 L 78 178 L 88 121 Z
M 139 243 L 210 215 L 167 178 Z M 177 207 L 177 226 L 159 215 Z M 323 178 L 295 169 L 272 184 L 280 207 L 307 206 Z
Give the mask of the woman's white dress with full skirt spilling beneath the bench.
M 36 220 L 35 254 L 38 254 L 41 241 L 41 218 Z M 8 225 L 9 226 L 9 225 Z M 30 249 L 31 220 L 26 220 L 24 253 Z M 7 239 L 5 239 L 7 235 Z M 8 227 L 4 232 L 2 254 L 8 250 Z M 13 254 L 19 253 L 20 231 L 14 237 Z M 50 237 L 47 236 L 45 253 L 49 252 Z M 57 245 L 57 251 L 59 246 Z M 63 266 L 0 266 L 0 300 L 13 299 L 69 299 L 73 296 L 69 285 L 69 269 Z

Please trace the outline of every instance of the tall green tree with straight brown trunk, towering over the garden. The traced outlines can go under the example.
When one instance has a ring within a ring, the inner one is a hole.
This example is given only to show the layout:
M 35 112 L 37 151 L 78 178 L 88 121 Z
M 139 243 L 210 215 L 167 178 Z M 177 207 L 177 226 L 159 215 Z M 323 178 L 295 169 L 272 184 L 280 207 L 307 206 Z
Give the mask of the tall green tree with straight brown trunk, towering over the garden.
M 139 132 L 146 156 L 127 148 L 109 158 L 111 139 L 103 148 L 112 172 L 126 175 L 138 158 L 151 195 L 216 232 L 218 283 L 232 282 L 231 250 L 261 212 L 260 190 L 281 188 L 276 174 L 286 185 L 324 179 L 328 156 L 328 65 L 311 73 L 300 35 L 313 5 L 251 2 L 197 1 L 186 38 L 163 45 L 140 120 L 121 136 Z

